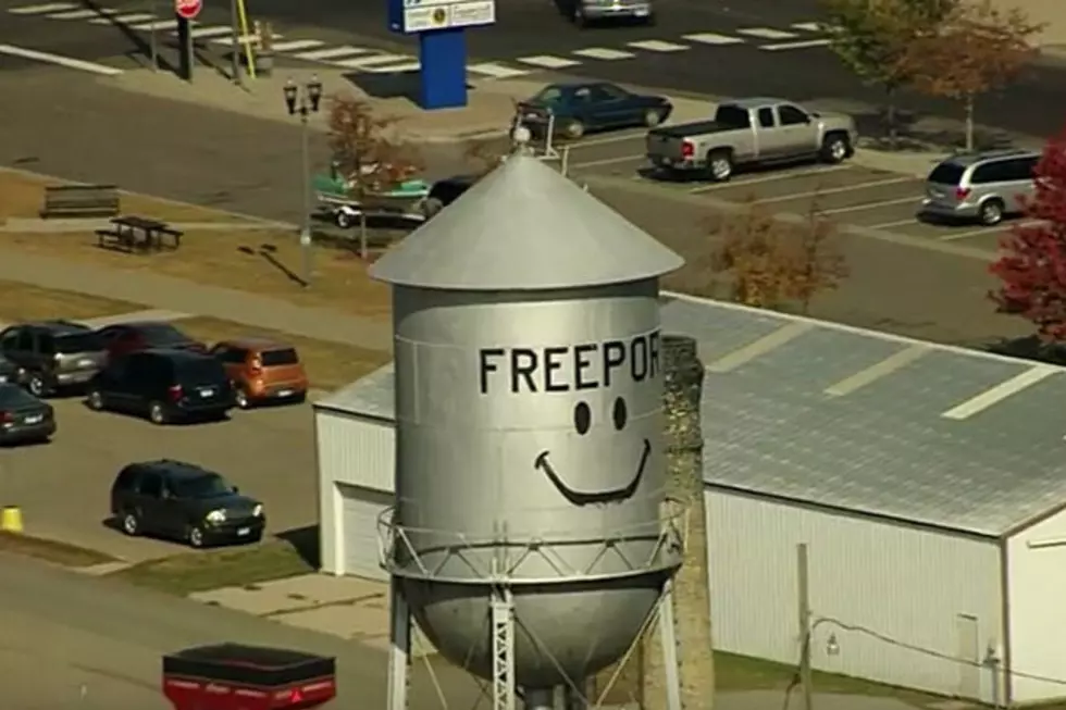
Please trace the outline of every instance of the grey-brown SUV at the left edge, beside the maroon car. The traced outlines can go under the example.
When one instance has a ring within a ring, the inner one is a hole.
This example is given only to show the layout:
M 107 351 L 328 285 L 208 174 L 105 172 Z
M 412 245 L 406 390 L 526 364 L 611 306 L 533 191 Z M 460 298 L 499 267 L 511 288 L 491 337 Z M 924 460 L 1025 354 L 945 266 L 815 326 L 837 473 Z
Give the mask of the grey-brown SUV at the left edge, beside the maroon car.
M 12 325 L 0 333 L 0 353 L 22 369 L 23 384 L 35 397 L 84 385 L 108 359 L 92 328 L 71 321 Z

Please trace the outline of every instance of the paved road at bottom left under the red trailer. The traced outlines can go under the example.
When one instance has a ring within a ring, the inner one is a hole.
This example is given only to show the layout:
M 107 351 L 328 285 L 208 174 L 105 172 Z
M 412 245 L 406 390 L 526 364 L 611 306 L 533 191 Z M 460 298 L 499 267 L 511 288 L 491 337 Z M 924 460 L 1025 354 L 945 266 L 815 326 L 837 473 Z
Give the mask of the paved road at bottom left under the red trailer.
M 0 555 L 0 677 L 4 705 L 20 710 L 164 710 L 161 655 L 236 640 L 337 658 L 338 700 L 329 707 L 385 707 L 385 656 L 334 636 L 177 599 L 108 580 Z M 438 676 L 455 707 L 470 708 L 469 680 Z M 412 708 L 438 709 L 422 672 Z

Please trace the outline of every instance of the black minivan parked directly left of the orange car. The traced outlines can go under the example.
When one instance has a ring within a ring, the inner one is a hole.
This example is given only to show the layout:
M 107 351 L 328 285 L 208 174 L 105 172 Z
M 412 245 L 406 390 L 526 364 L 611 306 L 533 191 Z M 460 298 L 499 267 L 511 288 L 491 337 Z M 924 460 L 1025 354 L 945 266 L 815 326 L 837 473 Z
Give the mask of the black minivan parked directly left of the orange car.
M 233 383 L 222 363 L 184 350 L 141 350 L 113 359 L 89 382 L 86 403 L 147 415 L 153 424 L 225 419 Z

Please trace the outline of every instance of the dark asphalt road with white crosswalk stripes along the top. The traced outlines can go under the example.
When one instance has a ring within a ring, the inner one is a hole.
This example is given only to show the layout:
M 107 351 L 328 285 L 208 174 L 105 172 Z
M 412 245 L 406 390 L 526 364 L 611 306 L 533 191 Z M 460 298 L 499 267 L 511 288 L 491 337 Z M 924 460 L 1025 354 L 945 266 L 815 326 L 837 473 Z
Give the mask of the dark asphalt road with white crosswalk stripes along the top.
M 469 50 L 475 59 L 468 68 L 472 76 L 499 78 L 553 71 L 701 95 L 846 99 L 870 116 L 882 103 L 877 89 L 863 86 L 821 46 L 826 38 L 817 27 L 814 0 L 659 1 L 661 18 L 655 27 L 590 30 L 566 22 L 555 0 L 500 3 L 496 26 L 469 33 Z M 5 11 L 0 42 L 125 68 L 144 63 L 147 27 L 166 22 L 153 20 L 142 0 L 86 8 L 73 0 L 0 0 L 0 10 Z M 94 9 L 109 13 L 111 20 L 91 14 Z M 375 75 L 416 68 L 414 43 L 387 30 L 384 10 L 382 0 L 260 0 L 253 12 L 275 22 L 283 35 L 281 53 L 305 58 L 298 61 Z M 227 41 L 230 24 L 226 8 L 209 3 L 200 20 L 203 55 L 220 61 L 225 47 L 219 42 Z M 160 38 L 163 45 L 173 43 L 169 30 Z M 173 50 L 164 49 L 163 57 L 172 60 Z M 0 66 L 26 64 L 5 58 Z M 978 120 L 1031 136 L 1056 133 L 1066 121 L 1064 76 L 1066 70 L 1051 65 L 1028 68 L 1007 89 L 982 98 Z M 917 96 L 904 97 L 903 105 L 922 115 L 959 116 L 952 103 Z

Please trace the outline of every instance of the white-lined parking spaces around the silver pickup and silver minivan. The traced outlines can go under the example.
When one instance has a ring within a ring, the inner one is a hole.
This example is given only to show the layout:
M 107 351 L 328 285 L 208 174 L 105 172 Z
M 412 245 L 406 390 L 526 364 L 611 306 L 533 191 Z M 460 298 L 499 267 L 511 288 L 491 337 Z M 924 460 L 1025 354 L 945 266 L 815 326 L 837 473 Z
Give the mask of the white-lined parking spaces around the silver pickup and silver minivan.
M 567 158 L 575 179 L 588 175 L 628 177 L 654 184 L 664 191 L 707 196 L 730 202 L 754 201 L 774 213 L 807 214 L 813 210 L 841 224 L 995 249 L 1013 224 L 933 224 L 919 219 L 922 179 L 845 162 L 804 163 L 737 171 L 728 183 L 709 178 L 670 180 L 649 170 L 644 157 L 644 132 L 592 135 L 573 144 Z

